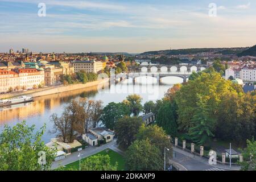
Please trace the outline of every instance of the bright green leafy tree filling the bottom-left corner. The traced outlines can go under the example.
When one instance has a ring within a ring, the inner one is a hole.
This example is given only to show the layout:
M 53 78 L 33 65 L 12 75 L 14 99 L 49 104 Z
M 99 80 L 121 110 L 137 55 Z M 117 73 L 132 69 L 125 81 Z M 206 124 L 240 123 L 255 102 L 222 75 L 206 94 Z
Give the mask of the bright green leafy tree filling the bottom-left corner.
M 18 123 L 14 127 L 5 126 L 0 134 L 0 171 L 41 171 L 51 169 L 56 150 L 48 148 L 41 140 L 46 130 L 46 125 L 36 133 L 34 130 L 35 125 L 29 127 L 25 121 Z M 39 160 L 39 156 L 42 154 L 46 156 L 45 163 L 44 160 Z

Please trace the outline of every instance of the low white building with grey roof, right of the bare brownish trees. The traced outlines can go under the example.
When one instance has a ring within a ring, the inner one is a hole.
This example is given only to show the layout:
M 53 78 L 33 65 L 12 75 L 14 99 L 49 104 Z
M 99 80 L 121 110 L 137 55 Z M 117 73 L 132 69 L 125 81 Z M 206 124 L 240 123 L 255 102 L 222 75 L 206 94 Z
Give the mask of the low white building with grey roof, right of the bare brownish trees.
M 88 133 L 82 135 L 82 139 L 89 143 L 91 146 L 97 146 L 98 141 L 106 139 L 106 143 L 111 142 L 114 138 L 114 131 L 98 127 L 89 129 Z

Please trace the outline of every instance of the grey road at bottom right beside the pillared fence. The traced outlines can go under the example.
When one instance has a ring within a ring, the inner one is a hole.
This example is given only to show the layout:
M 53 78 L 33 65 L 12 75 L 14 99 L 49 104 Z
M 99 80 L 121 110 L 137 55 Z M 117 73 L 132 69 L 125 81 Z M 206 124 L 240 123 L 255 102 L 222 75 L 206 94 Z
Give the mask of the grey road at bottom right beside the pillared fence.
M 232 166 L 230 169 L 229 166 L 222 164 L 210 165 L 207 159 L 201 158 L 200 156 L 194 156 L 193 154 L 176 147 L 174 147 L 174 158 L 172 160 L 179 163 L 188 171 L 230 171 L 240 169 L 240 166 Z

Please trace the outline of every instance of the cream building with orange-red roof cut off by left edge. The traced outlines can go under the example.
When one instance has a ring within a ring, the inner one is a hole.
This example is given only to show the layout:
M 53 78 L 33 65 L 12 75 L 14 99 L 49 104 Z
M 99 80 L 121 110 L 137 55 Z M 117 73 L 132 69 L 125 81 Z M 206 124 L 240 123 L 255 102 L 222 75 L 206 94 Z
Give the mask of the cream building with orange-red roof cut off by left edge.
M 19 75 L 14 71 L 0 70 L 0 93 L 9 92 L 10 89 L 19 90 Z

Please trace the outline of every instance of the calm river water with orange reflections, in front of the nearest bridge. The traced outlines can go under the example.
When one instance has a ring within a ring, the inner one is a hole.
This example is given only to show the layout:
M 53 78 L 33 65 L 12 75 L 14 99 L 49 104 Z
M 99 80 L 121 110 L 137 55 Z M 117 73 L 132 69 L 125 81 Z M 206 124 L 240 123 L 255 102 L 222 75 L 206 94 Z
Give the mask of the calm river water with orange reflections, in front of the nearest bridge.
M 34 102 L 28 104 L 13 105 L 10 107 L 0 108 L 0 132 L 3 126 L 14 126 L 16 123 L 23 120 L 27 121 L 28 125 L 35 125 L 36 130 L 40 129 L 46 123 L 47 130 L 43 135 L 43 140 L 49 142 L 54 138 L 54 134 L 49 134 L 49 129 L 52 128 L 52 122 L 49 117 L 53 113 L 61 114 L 65 106 L 72 100 L 80 98 L 89 98 L 91 100 L 102 100 L 104 105 L 109 102 L 122 102 L 129 94 L 139 94 L 143 98 L 143 104 L 146 101 L 156 101 L 164 96 L 173 84 L 183 82 L 179 77 L 165 77 L 162 79 L 162 84 L 154 85 L 155 78 L 140 77 L 133 84 L 131 80 L 124 80 L 116 85 L 105 85 L 103 90 L 98 90 L 98 86 L 65 92 L 60 94 L 52 94 L 35 98 Z

